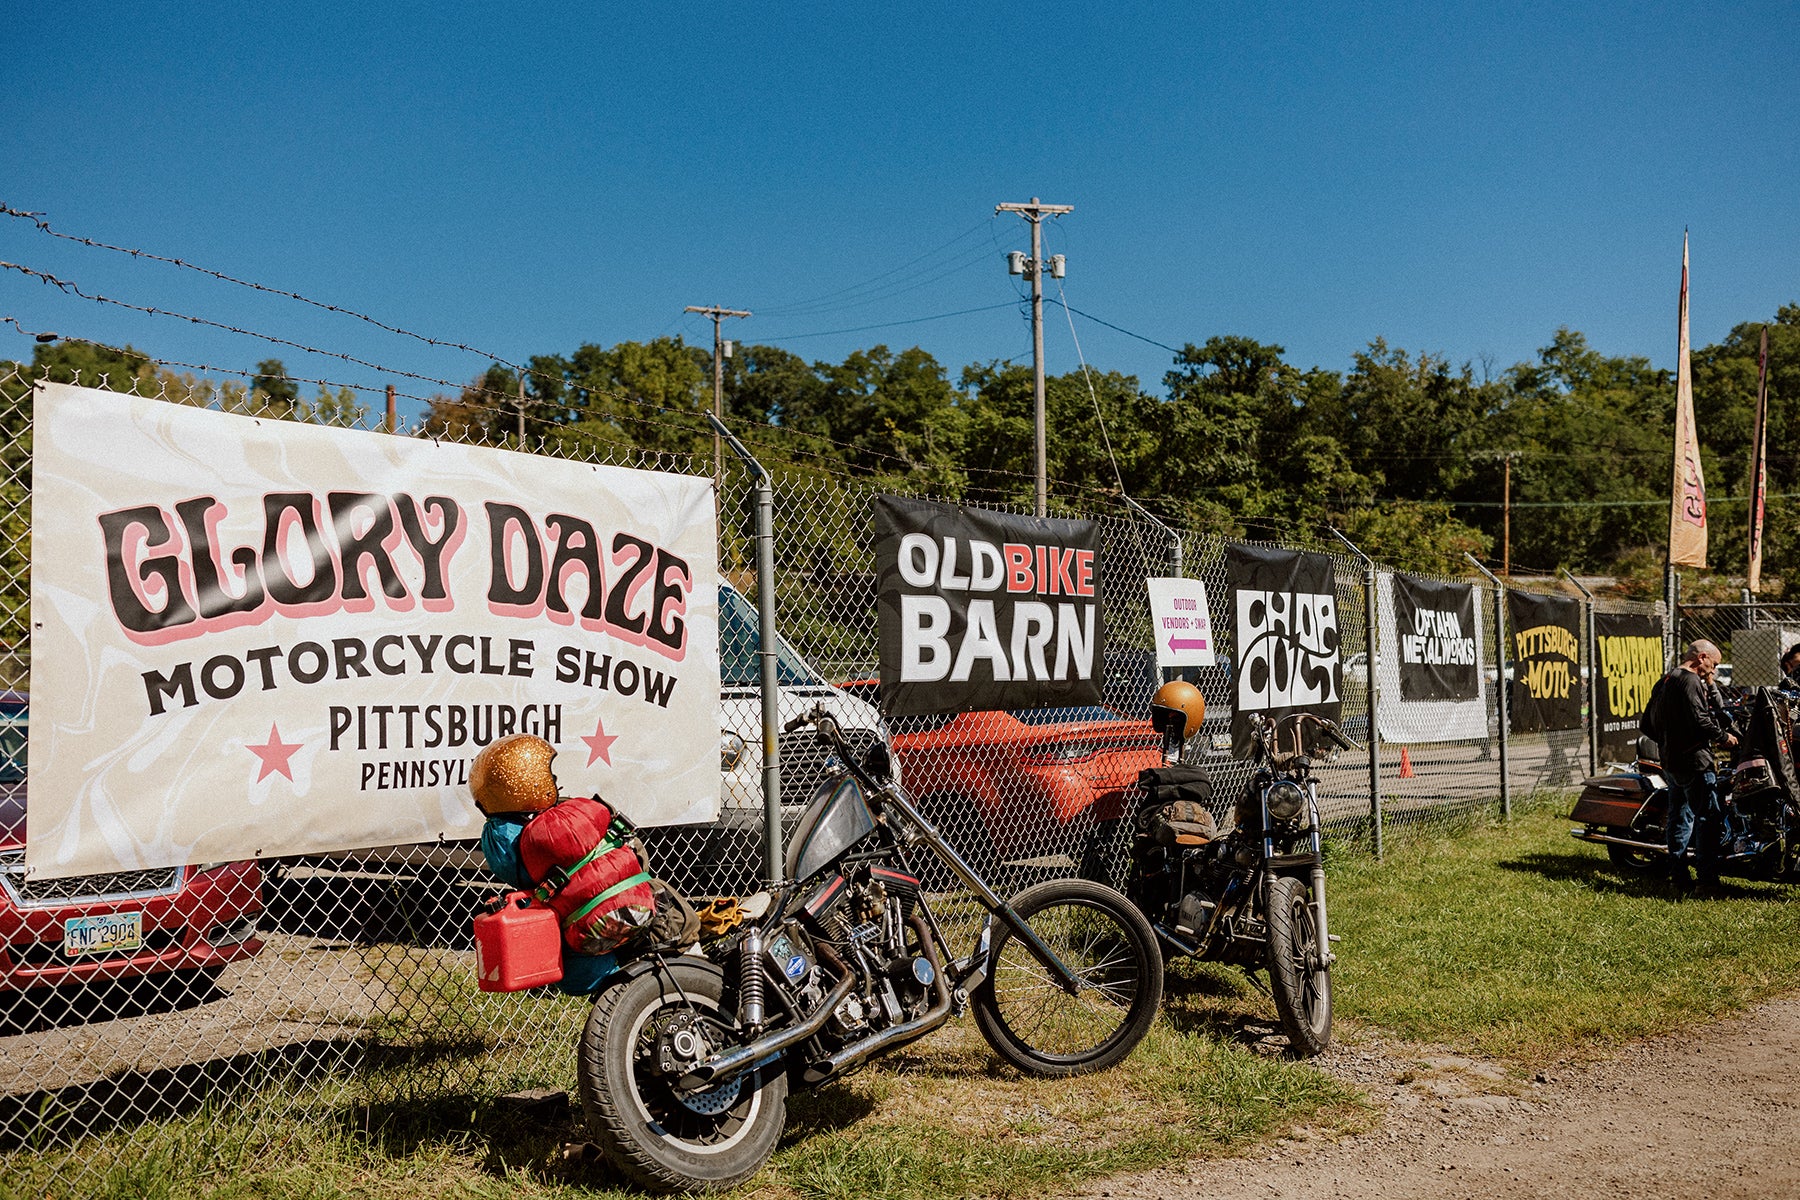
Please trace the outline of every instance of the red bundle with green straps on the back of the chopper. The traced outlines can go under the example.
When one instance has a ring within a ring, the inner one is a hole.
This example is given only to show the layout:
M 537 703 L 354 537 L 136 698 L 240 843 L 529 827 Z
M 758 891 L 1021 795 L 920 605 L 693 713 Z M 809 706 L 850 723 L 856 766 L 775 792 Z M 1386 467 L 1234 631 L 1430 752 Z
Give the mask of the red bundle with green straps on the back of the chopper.
M 655 921 L 657 891 L 639 846 L 599 797 L 558 801 L 526 822 L 518 862 L 571 950 L 610 954 Z

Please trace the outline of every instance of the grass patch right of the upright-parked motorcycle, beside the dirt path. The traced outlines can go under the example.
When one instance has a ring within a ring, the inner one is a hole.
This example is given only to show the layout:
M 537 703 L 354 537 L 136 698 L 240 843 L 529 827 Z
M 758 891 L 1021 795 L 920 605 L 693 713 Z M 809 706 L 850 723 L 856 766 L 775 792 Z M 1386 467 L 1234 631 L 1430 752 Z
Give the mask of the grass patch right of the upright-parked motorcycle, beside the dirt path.
M 1793 889 L 1672 898 L 1570 837 L 1566 801 L 1332 864 L 1337 1013 L 1519 1065 L 1597 1054 L 1800 986 Z

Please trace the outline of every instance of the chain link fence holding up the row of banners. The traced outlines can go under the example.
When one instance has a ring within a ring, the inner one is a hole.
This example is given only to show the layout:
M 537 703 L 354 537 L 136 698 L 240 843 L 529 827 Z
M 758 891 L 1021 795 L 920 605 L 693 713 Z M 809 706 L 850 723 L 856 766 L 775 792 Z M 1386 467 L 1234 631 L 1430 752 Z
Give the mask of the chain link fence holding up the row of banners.
M 223 399 L 236 410 L 248 403 L 241 389 L 221 398 L 166 378 L 119 387 L 173 403 Z M 31 619 L 27 374 L 0 376 L 0 423 L 7 430 L 0 736 L 5 795 L 22 811 Z M 715 468 L 711 459 L 623 444 L 540 443 L 531 450 L 697 475 Z M 742 754 L 724 768 L 718 822 L 646 831 L 657 873 L 695 896 L 752 891 L 761 864 L 754 506 L 745 468 L 727 459 L 720 470 L 722 723 Z M 887 739 L 927 815 L 999 891 L 1046 874 L 1121 878 L 1138 774 L 1161 763 L 1148 702 L 1163 673 L 1143 579 L 1174 574 L 1177 561 L 1181 574 L 1206 581 L 1220 660 L 1192 675 L 1208 718 L 1190 754 L 1211 770 L 1220 811 L 1249 779 L 1249 765 L 1229 750 L 1226 540 L 1125 513 L 1058 511 L 1100 524 L 1105 705 L 886 721 L 875 705 L 875 488 L 848 473 L 779 464 L 772 464 L 772 482 L 781 720 L 826 703 L 851 741 Z M 1512 738 L 1510 754 L 1499 752 L 1505 734 L 1492 666 L 1483 676 L 1480 736 L 1384 741 L 1381 705 L 1399 696 L 1399 657 L 1370 644 L 1373 567 L 1345 552 L 1330 558 L 1346 664 L 1345 727 L 1366 747 L 1319 770 L 1332 844 L 1379 851 L 1384 833 L 1492 811 L 1508 784 L 1532 792 L 1579 781 L 1582 730 Z M 1481 660 L 1492 664 L 1501 630 L 1489 588 L 1478 610 Z M 783 736 L 779 756 L 787 833 L 830 763 L 797 734 Z M 295 1153 L 304 1130 L 369 1137 L 434 1103 L 454 1101 L 468 1112 L 524 1088 L 574 1087 L 572 1049 L 589 1006 L 475 988 L 470 921 L 497 883 L 473 844 L 27 883 L 22 826 L 0 833 L 0 1180 L 20 1195 L 130 1195 L 131 1164 L 158 1146 L 191 1162 L 196 1175 L 223 1173 L 247 1153 Z M 142 948 L 108 955 L 65 948 L 68 919 L 121 909 L 144 914 Z

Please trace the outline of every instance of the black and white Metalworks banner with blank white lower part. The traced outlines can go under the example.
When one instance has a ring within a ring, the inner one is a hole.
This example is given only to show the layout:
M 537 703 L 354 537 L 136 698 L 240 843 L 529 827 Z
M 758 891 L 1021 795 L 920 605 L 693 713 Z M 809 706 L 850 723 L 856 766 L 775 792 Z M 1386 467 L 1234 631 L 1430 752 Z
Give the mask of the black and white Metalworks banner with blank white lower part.
M 1381 736 L 1400 745 L 1487 738 L 1481 588 L 1382 572 L 1375 576 L 1375 612 L 1382 628 Z

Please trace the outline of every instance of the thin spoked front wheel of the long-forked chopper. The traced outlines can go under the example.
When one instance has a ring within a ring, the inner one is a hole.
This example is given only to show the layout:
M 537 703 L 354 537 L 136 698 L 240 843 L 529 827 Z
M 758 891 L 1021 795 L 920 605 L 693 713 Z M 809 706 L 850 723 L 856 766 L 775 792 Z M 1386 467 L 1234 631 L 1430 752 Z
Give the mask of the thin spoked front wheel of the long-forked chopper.
M 1150 923 L 1111 887 L 1049 880 L 1013 910 L 1080 979 L 1073 995 L 1001 921 L 976 1027 L 1008 1063 L 1035 1076 L 1102 1070 L 1130 1054 L 1163 1002 L 1163 954 Z

